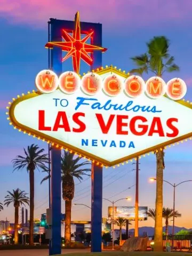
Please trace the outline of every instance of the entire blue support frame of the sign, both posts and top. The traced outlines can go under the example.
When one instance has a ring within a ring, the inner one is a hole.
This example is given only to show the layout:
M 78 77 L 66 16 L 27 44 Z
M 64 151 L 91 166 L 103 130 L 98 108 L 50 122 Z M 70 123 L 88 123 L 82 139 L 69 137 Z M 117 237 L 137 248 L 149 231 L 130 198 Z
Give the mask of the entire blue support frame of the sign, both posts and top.
M 73 21 L 66 21 L 66 20 L 56 20 L 51 19 L 51 41 L 61 41 L 61 29 L 74 29 L 74 22 Z M 92 39 L 92 43 L 94 45 L 102 46 L 102 25 L 100 23 L 88 23 L 88 22 L 81 22 L 81 29 L 88 31 L 90 29 L 94 30 L 94 36 Z M 60 75 L 62 72 L 62 52 L 59 48 L 54 47 L 51 51 L 51 67 L 55 73 Z M 94 63 L 91 66 L 91 70 L 101 67 L 102 66 L 102 53 L 100 51 L 94 51 L 93 53 L 93 60 Z M 52 152 L 52 161 L 54 163 L 54 159 L 56 159 L 55 155 L 56 151 L 53 149 Z M 54 164 L 53 164 L 54 165 Z M 55 163 L 56 165 L 56 163 Z M 52 175 L 52 174 L 51 174 Z M 56 186 L 59 186 L 60 179 L 61 179 L 61 173 L 54 174 L 55 184 Z M 57 177 L 56 177 L 57 176 Z M 53 219 L 57 216 L 58 220 L 54 220 L 54 226 L 52 231 L 52 243 L 51 249 L 50 249 L 50 255 L 56 254 L 55 252 L 59 251 L 59 244 L 56 242 L 58 239 L 59 243 L 61 240 L 61 236 L 59 235 L 59 225 L 61 225 L 59 214 L 61 215 L 61 210 L 59 209 L 59 201 L 61 200 L 61 193 L 59 195 L 59 189 L 57 190 L 54 188 L 55 185 L 51 185 L 52 187 L 52 197 L 53 194 L 55 195 L 55 198 L 58 198 L 58 204 L 54 204 L 54 208 L 52 209 Z M 55 190 L 54 190 L 55 189 Z M 58 193 L 58 194 L 57 194 Z M 59 199 L 60 198 L 60 199 Z M 92 229 L 92 244 L 91 244 L 91 251 L 92 252 L 101 252 L 101 241 L 102 241 L 102 167 L 99 167 L 97 165 L 92 164 L 92 192 L 91 192 L 91 229 Z M 61 203 L 61 201 L 60 201 Z M 52 207 L 52 205 L 51 205 Z M 58 213 L 56 212 L 58 211 Z M 57 223 L 56 223 L 57 222 Z M 61 226 L 60 226 L 61 230 Z M 57 252 L 57 254 L 60 254 L 60 252 Z

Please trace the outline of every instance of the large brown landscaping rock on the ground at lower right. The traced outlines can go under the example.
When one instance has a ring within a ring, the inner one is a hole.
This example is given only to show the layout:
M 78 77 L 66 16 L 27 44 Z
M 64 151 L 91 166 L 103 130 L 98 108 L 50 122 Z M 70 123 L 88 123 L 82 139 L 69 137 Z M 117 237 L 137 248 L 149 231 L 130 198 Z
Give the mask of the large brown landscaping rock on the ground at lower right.
M 121 247 L 123 252 L 147 251 L 148 237 L 131 237 Z

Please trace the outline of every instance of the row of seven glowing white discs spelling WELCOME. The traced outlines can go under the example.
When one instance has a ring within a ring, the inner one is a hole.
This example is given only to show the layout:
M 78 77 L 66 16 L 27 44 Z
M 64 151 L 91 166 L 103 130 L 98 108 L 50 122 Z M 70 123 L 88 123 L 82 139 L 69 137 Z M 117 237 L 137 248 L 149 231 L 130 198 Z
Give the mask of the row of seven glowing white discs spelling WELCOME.
M 88 73 L 82 78 L 73 71 L 66 71 L 58 77 L 52 70 L 42 70 L 35 79 L 37 89 L 42 93 L 51 93 L 59 89 L 66 94 L 73 94 L 81 89 L 87 95 L 95 95 L 103 91 L 109 97 L 116 97 L 124 92 L 127 97 L 137 98 L 143 93 L 151 99 L 158 99 L 165 93 L 172 100 L 182 99 L 186 92 L 186 83 L 180 78 L 169 82 L 161 77 L 151 77 L 145 81 L 140 76 L 130 76 L 126 79 L 109 74 L 102 79 L 97 73 Z

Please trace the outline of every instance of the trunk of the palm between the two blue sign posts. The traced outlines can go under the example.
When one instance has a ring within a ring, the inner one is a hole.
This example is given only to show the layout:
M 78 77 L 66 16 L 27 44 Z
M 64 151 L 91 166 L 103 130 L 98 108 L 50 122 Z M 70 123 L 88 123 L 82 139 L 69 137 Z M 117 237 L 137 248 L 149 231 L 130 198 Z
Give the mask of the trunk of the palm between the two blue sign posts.
M 65 201 L 65 243 L 66 245 L 70 245 L 71 242 L 71 202 L 72 201 Z

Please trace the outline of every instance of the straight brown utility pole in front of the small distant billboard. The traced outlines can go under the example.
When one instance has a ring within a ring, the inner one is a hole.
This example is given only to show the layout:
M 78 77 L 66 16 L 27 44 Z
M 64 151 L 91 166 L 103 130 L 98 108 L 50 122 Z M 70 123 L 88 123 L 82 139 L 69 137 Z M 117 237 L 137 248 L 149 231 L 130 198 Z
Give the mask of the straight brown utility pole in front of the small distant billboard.
M 134 169 L 135 170 L 135 169 Z M 136 189 L 135 189 L 135 228 L 134 236 L 139 236 L 139 157 L 136 159 Z

